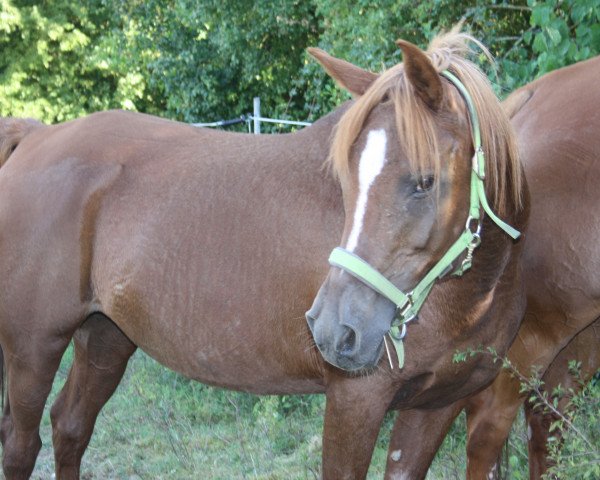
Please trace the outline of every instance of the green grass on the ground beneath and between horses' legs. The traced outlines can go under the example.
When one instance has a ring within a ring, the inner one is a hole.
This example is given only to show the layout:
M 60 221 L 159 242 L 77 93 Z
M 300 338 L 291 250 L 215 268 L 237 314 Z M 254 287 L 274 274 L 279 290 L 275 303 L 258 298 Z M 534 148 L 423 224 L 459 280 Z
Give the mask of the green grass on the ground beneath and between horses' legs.
M 42 419 L 44 446 L 32 477 L 36 480 L 53 477 L 49 408 L 71 361 L 69 349 Z M 596 402 L 599 390 L 595 388 Z M 324 400 L 319 395 L 257 397 L 208 387 L 169 371 L 138 351 L 98 417 L 83 458 L 82 478 L 318 479 Z M 383 478 L 393 419 L 394 415 L 389 415 L 384 422 L 368 479 Z M 464 425 L 462 414 L 438 452 L 428 480 L 465 478 Z M 522 416 L 509 448 L 508 478 L 528 478 Z

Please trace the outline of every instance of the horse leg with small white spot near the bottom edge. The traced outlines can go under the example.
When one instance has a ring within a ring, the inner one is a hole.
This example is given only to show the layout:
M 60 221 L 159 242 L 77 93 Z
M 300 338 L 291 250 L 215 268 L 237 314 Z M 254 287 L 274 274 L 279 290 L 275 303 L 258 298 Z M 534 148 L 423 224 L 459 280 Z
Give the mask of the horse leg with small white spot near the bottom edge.
M 385 478 L 424 479 L 464 402 L 436 410 L 398 412 L 390 437 Z

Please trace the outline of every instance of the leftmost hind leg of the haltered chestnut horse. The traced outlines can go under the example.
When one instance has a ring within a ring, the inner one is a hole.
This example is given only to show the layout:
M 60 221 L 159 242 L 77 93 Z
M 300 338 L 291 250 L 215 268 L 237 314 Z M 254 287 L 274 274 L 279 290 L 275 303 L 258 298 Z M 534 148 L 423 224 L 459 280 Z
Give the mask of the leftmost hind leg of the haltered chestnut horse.
M 7 480 L 26 480 L 42 446 L 39 426 L 44 405 L 70 335 L 28 332 L 4 346 L 8 400 L 0 438 Z

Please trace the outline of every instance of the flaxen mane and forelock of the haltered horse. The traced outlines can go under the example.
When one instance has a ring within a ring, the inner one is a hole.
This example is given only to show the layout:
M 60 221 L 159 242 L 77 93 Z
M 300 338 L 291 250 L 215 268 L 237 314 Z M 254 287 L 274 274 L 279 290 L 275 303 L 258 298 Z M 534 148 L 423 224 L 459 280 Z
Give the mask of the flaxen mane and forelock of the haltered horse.
M 485 74 L 466 57 L 471 44 L 491 60 L 488 50 L 472 36 L 459 32 L 460 25 L 435 37 L 427 49 L 438 72 L 449 70 L 465 85 L 479 116 L 481 140 L 486 159 L 486 193 L 493 208 L 505 215 L 522 206 L 522 174 L 514 131 L 508 116 L 494 94 Z M 443 82 L 449 82 L 444 79 Z M 454 87 L 451 87 L 455 89 Z M 448 92 L 449 88 L 445 88 Z M 456 91 L 456 95 L 460 93 Z M 404 75 L 403 64 L 383 72 L 340 119 L 334 132 L 329 162 L 338 177 L 348 175 L 350 151 L 369 113 L 379 103 L 393 101 L 398 138 L 415 173 L 434 172 L 438 181 L 442 159 L 435 135 L 436 121 L 442 115 L 433 112 L 413 91 Z M 462 97 L 460 98 L 462 100 Z M 463 101 L 464 102 L 464 101 Z

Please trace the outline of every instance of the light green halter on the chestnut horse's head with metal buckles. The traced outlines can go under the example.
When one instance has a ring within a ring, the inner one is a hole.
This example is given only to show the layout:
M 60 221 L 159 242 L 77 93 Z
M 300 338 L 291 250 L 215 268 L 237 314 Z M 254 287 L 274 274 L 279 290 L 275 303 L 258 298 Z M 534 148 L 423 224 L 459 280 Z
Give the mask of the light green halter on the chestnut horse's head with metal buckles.
M 458 88 L 465 99 L 469 110 L 469 117 L 471 119 L 475 154 L 473 155 L 471 171 L 469 216 L 467 218 L 465 230 L 410 293 L 404 293 L 402 290 L 398 289 L 375 268 L 348 250 L 338 247 L 335 248 L 329 256 L 329 263 L 332 266 L 345 270 L 396 305 L 396 315 L 387 335 L 390 337 L 396 348 L 399 368 L 404 366 L 404 345 L 402 339 L 406 335 L 406 324 L 417 317 L 417 314 L 429 295 L 435 281 L 446 275 L 452 269 L 452 265 L 456 259 L 464 252 L 467 253 L 464 260 L 461 262 L 460 266 L 454 270 L 452 275 L 461 276 L 471 268 L 473 251 L 481 243 L 481 220 L 483 215 L 481 209 L 489 215 L 496 225 L 513 239 L 516 240 L 521 235 L 518 230 L 506 224 L 494 214 L 485 196 L 485 186 L 483 184 L 485 178 L 485 158 L 481 147 L 479 119 L 475 107 L 473 106 L 471 95 L 469 95 L 469 92 L 467 92 L 461 81 L 452 73 L 445 70 L 441 72 L 441 75 L 450 80 L 456 88 Z M 474 231 L 472 228 L 474 228 Z M 384 343 L 389 357 L 390 354 L 385 337 Z M 391 357 L 390 365 L 393 368 Z

